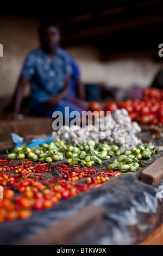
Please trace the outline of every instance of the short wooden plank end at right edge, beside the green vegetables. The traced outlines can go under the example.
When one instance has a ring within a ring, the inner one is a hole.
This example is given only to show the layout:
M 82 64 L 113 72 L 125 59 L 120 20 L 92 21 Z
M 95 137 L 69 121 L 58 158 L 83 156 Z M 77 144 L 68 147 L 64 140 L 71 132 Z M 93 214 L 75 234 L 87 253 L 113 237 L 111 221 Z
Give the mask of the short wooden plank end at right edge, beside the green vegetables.
M 163 156 L 142 170 L 140 180 L 146 184 L 156 184 L 163 176 Z

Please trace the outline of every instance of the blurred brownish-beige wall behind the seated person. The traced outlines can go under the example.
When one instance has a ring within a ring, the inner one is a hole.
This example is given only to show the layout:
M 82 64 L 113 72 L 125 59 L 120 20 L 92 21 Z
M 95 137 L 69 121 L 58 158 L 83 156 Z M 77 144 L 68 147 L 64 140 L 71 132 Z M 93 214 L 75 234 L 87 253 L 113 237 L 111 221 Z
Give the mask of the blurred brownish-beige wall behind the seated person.
M 0 17 L 1 44 L 4 47 L 4 57 L 0 59 L 1 97 L 12 95 L 26 54 L 38 46 L 39 24 L 39 20 L 27 17 Z M 162 65 L 143 56 L 103 62 L 98 48 L 87 45 L 69 46 L 66 50 L 77 60 L 84 83 L 105 82 L 122 88 L 147 87 Z

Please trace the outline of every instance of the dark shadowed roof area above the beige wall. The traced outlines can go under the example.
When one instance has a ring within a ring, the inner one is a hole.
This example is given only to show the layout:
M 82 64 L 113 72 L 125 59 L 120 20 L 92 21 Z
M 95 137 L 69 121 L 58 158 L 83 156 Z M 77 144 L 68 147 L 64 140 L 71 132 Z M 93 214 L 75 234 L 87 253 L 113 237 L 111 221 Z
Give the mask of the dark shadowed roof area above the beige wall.
M 1 15 L 54 19 L 61 29 L 64 47 L 87 43 L 99 48 L 101 59 L 143 55 L 161 60 L 163 3 L 143 1 L 12 1 Z

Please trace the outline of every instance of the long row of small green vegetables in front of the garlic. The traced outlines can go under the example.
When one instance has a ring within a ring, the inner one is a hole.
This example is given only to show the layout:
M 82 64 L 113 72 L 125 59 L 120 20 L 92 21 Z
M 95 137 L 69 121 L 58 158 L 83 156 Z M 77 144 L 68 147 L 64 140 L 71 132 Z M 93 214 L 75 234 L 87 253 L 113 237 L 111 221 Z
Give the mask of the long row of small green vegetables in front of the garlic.
M 95 141 L 87 141 L 76 146 L 67 143 L 64 139 L 56 139 L 49 144 L 40 144 L 39 148 L 30 149 L 28 144 L 16 147 L 8 153 L 9 159 L 29 158 L 37 162 L 58 162 L 68 159 L 70 166 L 93 165 L 103 166 L 102 160 L 109 160 L 116 156 L 117 159 L 108 165 L 110 170 L 120 170 L 134 172 L 141 166 L 142 159 L 151 159 L 151 155 L 158 153 L 159 147 L 148 148 L 148 145 L 139 145 L 131 150 L 124 150 L 117 145 L 98 144 Z

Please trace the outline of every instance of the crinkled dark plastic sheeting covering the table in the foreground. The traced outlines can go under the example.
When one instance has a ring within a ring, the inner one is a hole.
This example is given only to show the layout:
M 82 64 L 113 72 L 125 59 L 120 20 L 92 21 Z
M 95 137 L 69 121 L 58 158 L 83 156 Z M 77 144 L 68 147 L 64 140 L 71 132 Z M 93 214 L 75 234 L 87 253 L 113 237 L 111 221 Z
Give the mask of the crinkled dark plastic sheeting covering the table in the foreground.
M 152 156 L 150 164 L 161 156 L 161 152 Z M 105 161 L 103 169 L 112 161 Z M 159 198 L 159 186 L 163 185 L 163 178 L 156 185 L 144 184 L 139 180 L 141 170 L 121 173 L 101 187 L 61 200 L 51 209 L 35 211 L 28 220 L 2 223 L 0 244 L 17 243 L 46 227 L 58 224 L 90 204 L 103 208 L 101 221 L 88 226 L 83 233 L 79 232 L 68 245 L 140 244 L 163 220 L 163 198 Z

